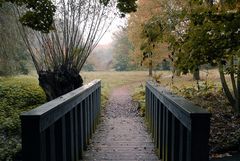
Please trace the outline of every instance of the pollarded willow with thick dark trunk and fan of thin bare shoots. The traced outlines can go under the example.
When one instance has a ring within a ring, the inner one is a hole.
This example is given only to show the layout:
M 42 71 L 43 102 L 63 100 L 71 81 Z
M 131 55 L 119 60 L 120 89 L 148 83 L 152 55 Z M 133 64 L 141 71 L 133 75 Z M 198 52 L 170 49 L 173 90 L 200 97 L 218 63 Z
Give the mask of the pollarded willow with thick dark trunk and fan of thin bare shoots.
M 109 0 L 61 0 L 55 4 L 53 31 L 41 33 L 22 28 L 39 84 L 48 100 L 82 86 L 79 72 L 111 25 L 117 14 L 114 7 L 120 3 L 126 1 L 118 0 L 116 4 Z M 128 13 L 135 7 L 123 5 L 120 9 Z

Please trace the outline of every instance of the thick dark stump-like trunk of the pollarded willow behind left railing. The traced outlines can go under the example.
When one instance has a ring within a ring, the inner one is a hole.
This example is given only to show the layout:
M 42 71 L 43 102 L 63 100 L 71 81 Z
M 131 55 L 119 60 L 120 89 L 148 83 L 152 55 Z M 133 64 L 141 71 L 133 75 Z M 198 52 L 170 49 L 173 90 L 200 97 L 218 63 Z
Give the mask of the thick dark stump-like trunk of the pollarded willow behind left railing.
M 63 66 L 55 71 L 40 71 L 38 74 L 39 85 L 43 88 L 47 101 L 83 85 L 82 77 L 76 70 Z

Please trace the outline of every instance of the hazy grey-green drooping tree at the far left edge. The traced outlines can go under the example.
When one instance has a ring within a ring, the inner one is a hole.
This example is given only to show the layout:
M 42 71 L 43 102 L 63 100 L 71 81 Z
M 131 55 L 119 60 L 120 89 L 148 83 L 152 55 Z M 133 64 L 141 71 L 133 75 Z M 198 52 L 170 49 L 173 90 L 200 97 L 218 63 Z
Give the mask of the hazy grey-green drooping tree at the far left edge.
M 0 8 L 0 76 L 27 74 L 30 57 L 21 40 L 11 4 Z

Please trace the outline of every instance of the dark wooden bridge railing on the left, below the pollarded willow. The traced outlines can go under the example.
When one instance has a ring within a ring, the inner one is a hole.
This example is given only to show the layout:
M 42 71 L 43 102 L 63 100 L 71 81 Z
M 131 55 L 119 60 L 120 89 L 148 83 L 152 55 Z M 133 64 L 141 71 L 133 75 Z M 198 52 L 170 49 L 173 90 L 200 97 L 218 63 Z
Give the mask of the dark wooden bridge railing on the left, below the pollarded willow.
M 94 132 L 100 114 L 101 82 L 21 114 L 23 161 L 76 161 Z

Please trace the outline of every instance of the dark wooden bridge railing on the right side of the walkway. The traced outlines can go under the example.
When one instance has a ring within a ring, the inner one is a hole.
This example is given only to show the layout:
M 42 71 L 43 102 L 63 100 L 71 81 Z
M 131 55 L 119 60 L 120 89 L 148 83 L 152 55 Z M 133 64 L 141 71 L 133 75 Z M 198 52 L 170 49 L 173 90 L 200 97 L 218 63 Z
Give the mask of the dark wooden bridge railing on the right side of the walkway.
M 146 119 L 162 161 L 208 161 L 211 114 L 146 83 Z

